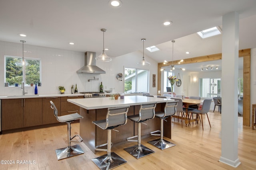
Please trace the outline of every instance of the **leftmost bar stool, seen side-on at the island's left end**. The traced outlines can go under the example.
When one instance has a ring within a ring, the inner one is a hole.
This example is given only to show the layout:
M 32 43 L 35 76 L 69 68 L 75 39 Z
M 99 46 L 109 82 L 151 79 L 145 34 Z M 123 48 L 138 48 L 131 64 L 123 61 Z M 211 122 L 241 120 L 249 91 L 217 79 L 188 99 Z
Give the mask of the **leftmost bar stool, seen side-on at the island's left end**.
M 64 158 L 69 158 L 71 156 L 75 156 L 75 155 L 84 153 L 84 151 L 81 149 L 81 147 L 79 145 L 70 146 L 71 142 L 80 143 L 83 141 L 83 139 L 80 137 L 80 135 L 74 135 L 73 137 L 71 137 L 70 123 L 74 120 L 82 119 L 84 117 L 82 117 L 78 113 L 73 113 L 73 114 L 64 115 L 64 116 L 58 116 L 58 109 L 56 108 L 55 104 L 52 101 L 50 101 L 50 104 L 51 104 L 51 108 L 54 109 L 54 115 L 55 115 L 56 119 L 59 122 L 65 122 L 68 125 L 68 147 L 55 150 L 58 160 L 64 159 Z M 75 137 L 78 137 L 79 140 L 75 140 L 75 141 L 72 140 Z

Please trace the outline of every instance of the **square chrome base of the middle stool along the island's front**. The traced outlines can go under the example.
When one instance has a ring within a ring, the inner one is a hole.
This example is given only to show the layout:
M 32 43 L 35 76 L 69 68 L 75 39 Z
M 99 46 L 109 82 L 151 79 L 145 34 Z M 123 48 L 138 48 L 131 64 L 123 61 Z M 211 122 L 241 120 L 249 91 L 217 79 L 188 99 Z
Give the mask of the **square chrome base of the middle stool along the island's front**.
M 138 145 L 135 145 L 135 146 L 132 146 L 132 147 L 128 147 L 124 150 L 126 152 L 128 152 L 129 154 L 131 154 L 132 156 L 134 156 L 135 158 L 137 158 L 137 159 L 154 153 L 154 150 L 151 150 L 151 149 L 145 147 L 144 145 L 140 145 L 140 148 L 141 149 L 138 149 Z

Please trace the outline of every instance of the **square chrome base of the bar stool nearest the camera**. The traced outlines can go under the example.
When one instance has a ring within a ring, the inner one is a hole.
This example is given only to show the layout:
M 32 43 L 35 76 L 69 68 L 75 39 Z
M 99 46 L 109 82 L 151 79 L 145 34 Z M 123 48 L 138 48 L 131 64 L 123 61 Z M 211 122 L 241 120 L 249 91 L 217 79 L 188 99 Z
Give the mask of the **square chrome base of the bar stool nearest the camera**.
M 92 161 L 101 170 L 111 170 L 127 162 L 126 160 L 118 156 L 115 152 L 111 152 L 110 156 L 108 156 L 108 154 L 104 154 L 102 156 L 92 159 Z

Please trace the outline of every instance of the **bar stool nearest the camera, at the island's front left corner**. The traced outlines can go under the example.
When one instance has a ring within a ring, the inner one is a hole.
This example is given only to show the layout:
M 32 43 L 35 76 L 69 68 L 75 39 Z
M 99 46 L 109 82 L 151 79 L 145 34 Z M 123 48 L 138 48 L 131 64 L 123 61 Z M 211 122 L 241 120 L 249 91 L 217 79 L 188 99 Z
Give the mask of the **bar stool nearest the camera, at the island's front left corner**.
M 129 107 L 130 106 L 108 108 L 106 119 L 92 122 L 101 129 L 108 130 L 107 143 L 95 147 L 95 150 L 106 151 L 107 154 L 92 159 L 92 161 L 101 170 L 110 170 L 127 162 L 118 156 L 115 152 L 111 152 L 111 147 L 113 145 L 111 143 L 111 130 L 113 129 L 114 131 L 117 131 L 114 129 L 115 127 L 118 127 L 119 125 L 125 125 L 127 123 L 127 112 Z M 100 147 L 106 145 L 107 149 L 100 149 Z

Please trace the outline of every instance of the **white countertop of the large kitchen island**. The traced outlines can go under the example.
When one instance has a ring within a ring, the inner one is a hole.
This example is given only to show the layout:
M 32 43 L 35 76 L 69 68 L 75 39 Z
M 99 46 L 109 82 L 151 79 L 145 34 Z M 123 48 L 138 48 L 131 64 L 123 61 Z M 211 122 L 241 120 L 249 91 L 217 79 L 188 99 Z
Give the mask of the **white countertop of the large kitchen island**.
M 152 98 L 147 96 L 124 96 L 124 99 L 118 98 L 118 100 L 110 100 L 110 98 L 83 98 L 83 99 L 68 99 L 68 102 L 77 106 L 83 107 L 84 109 L 102 109 L 108 107 L 119 107 L 119 106 L 133 106 L 142 103 L 164 103 L 172 99 L 164 98 Z

